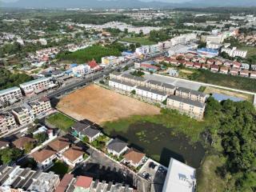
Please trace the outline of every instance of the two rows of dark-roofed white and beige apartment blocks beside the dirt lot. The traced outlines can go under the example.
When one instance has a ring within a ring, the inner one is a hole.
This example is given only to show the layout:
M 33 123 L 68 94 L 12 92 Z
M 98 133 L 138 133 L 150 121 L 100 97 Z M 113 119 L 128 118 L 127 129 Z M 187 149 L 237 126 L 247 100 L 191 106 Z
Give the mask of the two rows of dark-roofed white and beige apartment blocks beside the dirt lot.
M 182 113 L 188 114 L 192 118 L 203 118 L 206 107 L 206 94 L 202 92 L 183 87 L 176 89 L 175 86 L 152 80 L 146 81 L 144 86 L 135 85 L 134 83 L 113 78 L 113 75 L 114 74 L 111 75 L 112 78 L 110 78 L 109 86 L 114 89 L 126 92 L 134 90 L 135 94 L 138 96 L 157 102 L 166 100 L 166 106 L 171 109 L 180 110 Z M 139 84 L 141 84 L 141 82 L 139 82 Z

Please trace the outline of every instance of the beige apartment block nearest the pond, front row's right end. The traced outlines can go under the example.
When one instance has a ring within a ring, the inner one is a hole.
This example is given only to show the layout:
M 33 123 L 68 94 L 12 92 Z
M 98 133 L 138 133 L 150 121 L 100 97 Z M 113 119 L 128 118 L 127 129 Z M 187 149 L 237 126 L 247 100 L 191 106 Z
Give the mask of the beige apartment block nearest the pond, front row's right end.
M 181 98 L 176 95 L 170 95 L 167 98 L 166 105 L 171 109 L 179 110 L 191 118 L 202 119 L 205 111 L 205 103 L 190 100 L 188 98 Z

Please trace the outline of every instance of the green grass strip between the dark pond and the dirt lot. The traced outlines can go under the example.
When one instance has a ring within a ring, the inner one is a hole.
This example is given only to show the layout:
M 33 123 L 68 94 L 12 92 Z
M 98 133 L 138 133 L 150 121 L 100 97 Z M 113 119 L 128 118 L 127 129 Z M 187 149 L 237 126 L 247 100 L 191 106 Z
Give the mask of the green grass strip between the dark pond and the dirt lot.
M 206 121 L 199 122 L 186 115 L 179 114 L 176 110 L 162 110 L 161 114 L 154 116 L 133 116 L 119 119 L 115 122 L 106 122 L 103 127 L 106 127 L 106 134 L 110 134 L 112 130 L 126 132 L 129 126 L 135 122 L 152 122 L 166 126 L 176 133 L 185 134 L 190 138 L 191 142 L 198 142 L 200 140 L 200 134 L 210 123 Z

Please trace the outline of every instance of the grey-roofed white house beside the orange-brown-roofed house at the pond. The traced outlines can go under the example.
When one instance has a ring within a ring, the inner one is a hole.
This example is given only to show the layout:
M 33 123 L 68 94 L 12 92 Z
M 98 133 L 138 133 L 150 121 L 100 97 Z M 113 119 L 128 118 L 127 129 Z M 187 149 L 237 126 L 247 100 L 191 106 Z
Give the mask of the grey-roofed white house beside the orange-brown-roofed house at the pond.
M 121 141 L 118 138 L 111 139 L 107 144 L 106 149 L 109 154 L 113 154 L 116 156 L 122 155 L 126 150 L 128 150 L 128 144 L 126 142 Z

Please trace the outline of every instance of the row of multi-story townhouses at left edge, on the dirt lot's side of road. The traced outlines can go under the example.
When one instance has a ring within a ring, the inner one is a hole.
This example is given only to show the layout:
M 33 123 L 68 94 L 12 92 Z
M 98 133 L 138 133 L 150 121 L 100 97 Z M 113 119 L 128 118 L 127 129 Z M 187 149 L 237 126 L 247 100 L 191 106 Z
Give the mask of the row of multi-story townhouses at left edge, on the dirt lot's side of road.
M 23 106 L 0 114 L 0 133 L 6 133 L 18 125 L 26 125 L 40 118 L 51 110 L 50 99 L 40 98 L 38 101 L 25 103 Z

